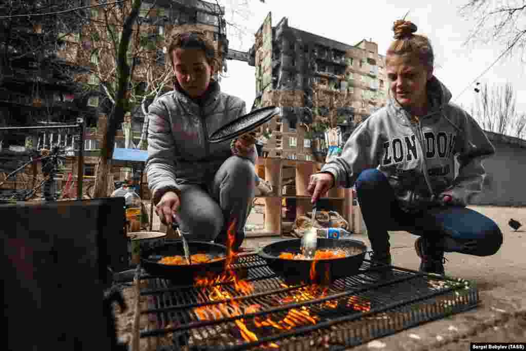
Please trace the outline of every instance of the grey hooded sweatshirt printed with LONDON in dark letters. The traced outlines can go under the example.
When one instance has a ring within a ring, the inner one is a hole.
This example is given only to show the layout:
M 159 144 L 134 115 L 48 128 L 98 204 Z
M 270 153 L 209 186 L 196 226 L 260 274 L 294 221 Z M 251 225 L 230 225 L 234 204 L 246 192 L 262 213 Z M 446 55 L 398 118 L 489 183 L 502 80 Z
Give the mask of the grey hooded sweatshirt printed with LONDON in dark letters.
M 453 204 L 465 206 L 481 192 L 481 161 L 495 149 L 477 122 L 450 102 L 451 93 L 436 77 L 428 83 L 428 96 L 431 112 L 418 124 L 411 124 L 408 112 L 391 98 L 355 129 L 341 156 L 321 172 L 331 173 L 337 186 L 349 188 L 364 169 L 377 168 L 407 212 L 437 205 L 444 194 L 451 195 Z

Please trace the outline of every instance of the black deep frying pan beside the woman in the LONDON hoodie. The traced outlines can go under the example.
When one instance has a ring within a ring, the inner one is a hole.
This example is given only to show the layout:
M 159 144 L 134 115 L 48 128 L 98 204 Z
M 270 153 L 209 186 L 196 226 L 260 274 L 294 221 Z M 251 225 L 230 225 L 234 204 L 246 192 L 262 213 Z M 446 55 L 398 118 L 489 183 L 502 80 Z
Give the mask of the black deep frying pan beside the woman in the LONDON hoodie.
M 311 280 L 310 268 L 312 260 L 279 258 L 279 255 L 284 252 L 299 253 L 300 246 L 301 239 L 282 240 L 265 246 L 258 252 L 258 255 L 264 258 L 269 267 L 276 274 L 282 276 L 287 284 L 299 284 L 301 282 L 325 283 L 327 280 L 332 281 L 357 274 L 367 252 L 367 246 L 359 240 L 318 238 L 318 249 L 340 248 L 350 252 L 351 249 L 359 248 L 362 250 L 362 253 L 343 258 L 318 260 L 315 263 L 316 276 Z

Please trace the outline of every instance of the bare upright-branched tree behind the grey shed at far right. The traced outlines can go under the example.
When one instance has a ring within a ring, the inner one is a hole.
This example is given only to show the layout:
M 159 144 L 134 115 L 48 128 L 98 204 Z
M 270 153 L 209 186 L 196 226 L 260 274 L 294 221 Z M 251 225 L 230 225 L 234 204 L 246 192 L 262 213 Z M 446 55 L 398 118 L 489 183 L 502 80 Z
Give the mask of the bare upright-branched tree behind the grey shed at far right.
M 510 83 L 484 84 L 471 108 L 472 116 L 486 131 L 521 137 L 526 126 L 526 114 L 515 109 L 516 96 Z

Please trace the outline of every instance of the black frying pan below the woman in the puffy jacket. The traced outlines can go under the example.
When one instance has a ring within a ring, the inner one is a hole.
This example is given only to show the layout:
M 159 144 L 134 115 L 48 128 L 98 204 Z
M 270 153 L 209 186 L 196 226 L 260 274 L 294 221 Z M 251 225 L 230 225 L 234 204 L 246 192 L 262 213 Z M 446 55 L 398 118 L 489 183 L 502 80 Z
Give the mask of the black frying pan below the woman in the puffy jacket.
M 164 256 L 184 256 L 183 243 L 180 240 L 175 240 L 141 252 L 141 266 L 147 273 L 173 280 L 178 285 L 192 285 L 196 277 L 207 276 L 211 278 L 225 270 L 226 246 L 208 242 L 188 242 L 188 248 L 193 255 L 208 254 L 213 258 L 218 256 L 223 258 L 215 262 L 192 264 L 190 266 L 157 263 Z

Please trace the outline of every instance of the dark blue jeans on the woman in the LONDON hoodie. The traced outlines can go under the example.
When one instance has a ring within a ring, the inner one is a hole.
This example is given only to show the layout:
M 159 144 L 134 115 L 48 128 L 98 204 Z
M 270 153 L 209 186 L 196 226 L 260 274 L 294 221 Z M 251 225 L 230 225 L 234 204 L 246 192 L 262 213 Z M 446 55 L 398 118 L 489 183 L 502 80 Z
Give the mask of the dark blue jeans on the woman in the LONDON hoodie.
M 466 207 L 437 206 L 417 214 L 404 212 L 387 177 L 378 169 L 362 171 L 355 185 L 373 251 L 389 250 L 388 230 L 424 236 L 444 252 L 476 256 L 493 255 L 502 244 L 497 224 Z

